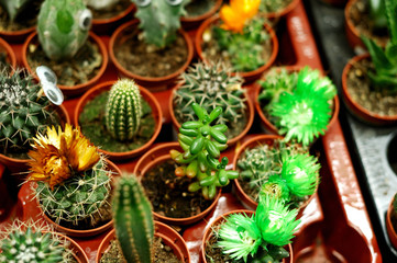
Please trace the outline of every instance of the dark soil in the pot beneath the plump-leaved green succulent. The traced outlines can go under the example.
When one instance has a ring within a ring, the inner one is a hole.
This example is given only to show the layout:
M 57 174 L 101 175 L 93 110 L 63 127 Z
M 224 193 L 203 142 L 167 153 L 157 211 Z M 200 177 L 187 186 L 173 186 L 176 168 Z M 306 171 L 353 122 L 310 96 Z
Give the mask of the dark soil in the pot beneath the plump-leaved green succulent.
M 206 210 L 213 201 L 206 201 L 201 192 L 189 192 L 191 180 L 175 175 L 177 164 L 169 159 L 150 169 L 142 178 L 142 186 L 153 210 L 172 218 L 187 218 Z

